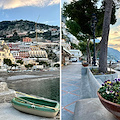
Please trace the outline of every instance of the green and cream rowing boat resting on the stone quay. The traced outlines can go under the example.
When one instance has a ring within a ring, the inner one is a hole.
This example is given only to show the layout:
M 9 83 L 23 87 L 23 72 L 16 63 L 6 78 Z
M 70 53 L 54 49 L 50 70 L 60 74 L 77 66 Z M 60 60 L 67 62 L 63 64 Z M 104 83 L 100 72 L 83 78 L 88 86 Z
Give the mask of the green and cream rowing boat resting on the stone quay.
M 19 111 L 43 117 L 55 117 L 60 107 L 56 101 L 32 97 L 15 97 L 12 105 Z

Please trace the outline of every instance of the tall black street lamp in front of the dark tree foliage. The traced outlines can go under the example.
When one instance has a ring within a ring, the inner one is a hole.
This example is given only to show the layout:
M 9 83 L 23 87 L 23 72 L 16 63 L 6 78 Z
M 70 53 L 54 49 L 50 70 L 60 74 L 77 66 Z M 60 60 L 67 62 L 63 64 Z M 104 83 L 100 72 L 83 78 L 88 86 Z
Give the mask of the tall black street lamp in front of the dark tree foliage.
M 96 58 L 95 58 L 95 25 L 96 25 L 96 23 L 97 23 L 97 17 L 96 17 L 96 14 L 93 13 L 92 14 L 92 32 L 93 32 L 94 54 L 93 54 L 92 64 L 94 66 L 97 66 L 96 65 Z

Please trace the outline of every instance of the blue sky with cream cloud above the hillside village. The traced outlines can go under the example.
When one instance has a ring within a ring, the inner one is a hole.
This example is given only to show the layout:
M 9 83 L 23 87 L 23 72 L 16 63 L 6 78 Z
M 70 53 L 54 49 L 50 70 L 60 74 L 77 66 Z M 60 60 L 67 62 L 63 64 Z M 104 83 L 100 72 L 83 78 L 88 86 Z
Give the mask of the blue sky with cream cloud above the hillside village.
M 29 20 L 60 26 L 60 0 L 0 0 L 0 21 Z

